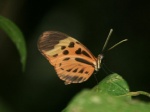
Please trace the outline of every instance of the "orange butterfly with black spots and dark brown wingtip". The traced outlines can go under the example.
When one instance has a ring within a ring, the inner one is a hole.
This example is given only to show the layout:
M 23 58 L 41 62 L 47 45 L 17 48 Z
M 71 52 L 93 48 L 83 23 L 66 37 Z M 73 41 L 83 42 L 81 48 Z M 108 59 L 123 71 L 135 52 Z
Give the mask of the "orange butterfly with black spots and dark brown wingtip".
M 103 49 L 111 32 L 112 29 Z M 103 59 L 102 54 L 96 58 L 78 40 L 57 31 L 44 32 L 38 40 L 38 49 L 54 66 L 58 77 L 65 81 L 65 84 L 86 81 L 94 70 L 98 71 L 100 69 L 101 60 Z

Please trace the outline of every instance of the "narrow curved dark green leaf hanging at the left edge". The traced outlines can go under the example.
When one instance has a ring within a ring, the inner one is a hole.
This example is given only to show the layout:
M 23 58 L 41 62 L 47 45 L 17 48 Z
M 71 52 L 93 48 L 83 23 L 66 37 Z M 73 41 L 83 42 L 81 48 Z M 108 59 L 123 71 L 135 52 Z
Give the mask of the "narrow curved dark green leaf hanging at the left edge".
M 9 38 L 16 45 L 21 57 L 22 70 L 24 71 L 26 65 L 27 51 L 26 51 L 26 44 L 22 32 L 11 20 L 3 16 L 0 16 L 0 28 L 7 33 Z

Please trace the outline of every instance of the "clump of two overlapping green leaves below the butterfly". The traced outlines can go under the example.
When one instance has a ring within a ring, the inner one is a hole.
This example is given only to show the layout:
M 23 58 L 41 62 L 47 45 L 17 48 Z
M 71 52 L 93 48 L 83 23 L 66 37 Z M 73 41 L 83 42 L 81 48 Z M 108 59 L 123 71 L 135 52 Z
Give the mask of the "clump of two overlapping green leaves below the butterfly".
M 76 95 L 63 112 L 149 112 L 150 104 L 132 100 L 126 81 L 114 73 L 92 90 Z

